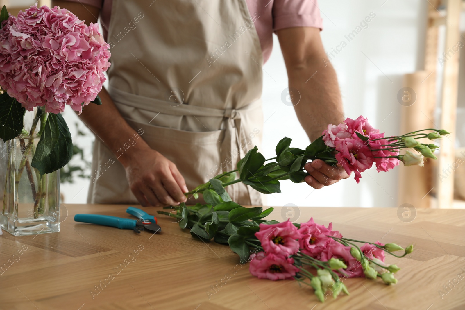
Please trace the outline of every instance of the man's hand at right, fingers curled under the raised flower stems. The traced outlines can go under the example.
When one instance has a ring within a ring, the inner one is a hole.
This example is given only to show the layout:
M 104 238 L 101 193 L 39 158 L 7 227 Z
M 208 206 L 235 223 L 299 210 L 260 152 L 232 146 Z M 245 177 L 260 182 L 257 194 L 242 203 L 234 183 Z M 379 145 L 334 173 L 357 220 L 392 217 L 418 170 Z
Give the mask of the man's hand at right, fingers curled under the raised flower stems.
M 307 163 L 305 170 L 310 173 L 309 176 L 305 177 L 305 182 L 317 190 L 339 182 L 344 178 L 349 178 L 344 168 L 328 165 L 321 159 L 315 159 L 311 163 Z

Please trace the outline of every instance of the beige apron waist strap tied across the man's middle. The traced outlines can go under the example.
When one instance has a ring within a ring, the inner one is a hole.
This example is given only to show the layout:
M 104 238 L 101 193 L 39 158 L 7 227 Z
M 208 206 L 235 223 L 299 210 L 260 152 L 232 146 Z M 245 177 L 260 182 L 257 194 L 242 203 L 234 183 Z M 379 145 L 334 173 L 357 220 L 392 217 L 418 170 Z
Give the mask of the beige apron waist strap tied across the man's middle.
M 193 106 L 183 103 L 177 104 L 175 102 L 144 97 L 130 92 L 121 91 L 112 86 L 109 87 L 108 92 L 110 93 L 113 101 L 118 104 L 170 115 L 213 116 L 226 117 L 229 119 L 240 119 L 240 113 L 248 112 L 261 107 L 260 99 L 252 101 L 248 105 L 239 109 L 213 109 L 204 106 Z

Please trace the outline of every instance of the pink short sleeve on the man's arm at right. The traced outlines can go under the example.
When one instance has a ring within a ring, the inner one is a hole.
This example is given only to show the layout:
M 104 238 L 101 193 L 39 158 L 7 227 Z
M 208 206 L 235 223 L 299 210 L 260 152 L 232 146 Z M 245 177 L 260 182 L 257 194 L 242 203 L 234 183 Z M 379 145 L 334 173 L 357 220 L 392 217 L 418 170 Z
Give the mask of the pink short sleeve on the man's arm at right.
M 317 0 L 274 0 L 273 31 L 290 27 L 323 29 Z

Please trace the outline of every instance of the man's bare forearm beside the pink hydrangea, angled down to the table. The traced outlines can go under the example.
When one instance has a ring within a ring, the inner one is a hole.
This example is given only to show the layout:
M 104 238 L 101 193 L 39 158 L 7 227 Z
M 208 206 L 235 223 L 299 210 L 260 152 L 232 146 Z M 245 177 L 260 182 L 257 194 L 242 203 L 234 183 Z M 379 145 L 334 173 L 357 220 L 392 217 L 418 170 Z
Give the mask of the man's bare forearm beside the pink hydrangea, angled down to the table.
M 120 148 L 124 147 L 125 144 L 132 145 L 131 141 L 137 139 L 137 144 L 132 145 L 131 148 L 121 156 L 117 156 L 121 164 L 126 166 L 132 154 L 137 153 L 140 149 L 148 148 L 149 146 L 143 139 L 138 139 L 139 133 L 123 119 L 105 88 L 102 88 L 99 96 L 102 100 L 102 105 L 97 106 L 91 103 L 84 107 L 80 119 L 93 131 L 96 137 L 100 138 L 115 154 L 117 154 Z

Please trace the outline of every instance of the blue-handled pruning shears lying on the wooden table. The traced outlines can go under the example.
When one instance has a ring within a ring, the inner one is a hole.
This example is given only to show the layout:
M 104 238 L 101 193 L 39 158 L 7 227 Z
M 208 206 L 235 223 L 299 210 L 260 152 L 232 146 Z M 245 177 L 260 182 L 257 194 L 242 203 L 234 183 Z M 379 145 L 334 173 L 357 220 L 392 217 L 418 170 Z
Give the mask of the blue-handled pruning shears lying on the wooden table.
M 157 218 L 153 215 L 134 207 L 127 208 L 126 212 L 139 219 L 117 218 L 100 214 L 76 214 L 74 221 L 112 226 L 119 229 L 133 229 L 137 233 L 143 230 L 153 231 L 154 233 L 161 231 L 160 226 L 157 224 Z

